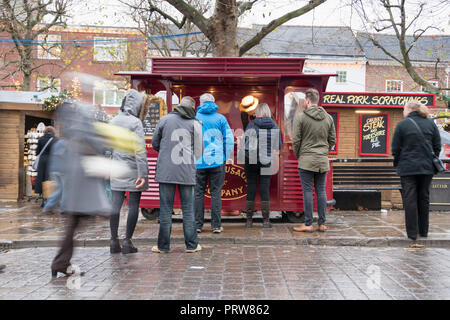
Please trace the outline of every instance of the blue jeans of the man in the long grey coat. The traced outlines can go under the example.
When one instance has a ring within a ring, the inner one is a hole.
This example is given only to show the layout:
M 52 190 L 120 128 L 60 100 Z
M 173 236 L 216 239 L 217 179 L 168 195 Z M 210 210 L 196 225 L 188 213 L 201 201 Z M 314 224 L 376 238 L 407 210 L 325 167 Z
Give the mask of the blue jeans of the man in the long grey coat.
M 186 249 L 193 250 L 197 248 L 198 245 L 198 237 L 197 231 L 195 230 L 194 219 L 194 186 L 160 183 L 158 249 L 161 251 L 170 251 L 173 201 L 177 186 L 181 200 L 181 210 L 183 211 L 183 232 Z

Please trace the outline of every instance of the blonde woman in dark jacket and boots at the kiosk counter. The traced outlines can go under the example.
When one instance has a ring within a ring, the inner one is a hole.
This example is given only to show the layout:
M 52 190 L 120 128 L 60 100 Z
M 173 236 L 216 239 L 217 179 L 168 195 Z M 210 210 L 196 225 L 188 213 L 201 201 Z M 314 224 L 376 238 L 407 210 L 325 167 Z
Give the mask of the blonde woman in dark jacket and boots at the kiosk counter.
M 255 209 L 256 184 L 259 180 L 261 196 L 261 212 L 263 227 L 271 228 L 270 215 L 270 179 L 272 178 L 272 163 L 281 147 L 280 129 L 271 117 L 267 103 L 260 103 L 254 112 L 255 119 L 251 121 L 244 133 L 245 175 L 247 177 L 246 215 L 247 227 L 252 227 Z

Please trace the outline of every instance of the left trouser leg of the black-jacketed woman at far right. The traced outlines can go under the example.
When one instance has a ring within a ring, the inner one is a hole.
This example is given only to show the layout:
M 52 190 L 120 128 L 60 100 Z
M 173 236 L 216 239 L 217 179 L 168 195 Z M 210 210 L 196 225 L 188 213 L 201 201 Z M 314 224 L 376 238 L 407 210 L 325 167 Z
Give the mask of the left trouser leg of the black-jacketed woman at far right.
M 403 176 L 400 177 L 400 181 L 402 183 L 406 234 L 408 238 L 416 240 L 418 233 L 417 176 Z

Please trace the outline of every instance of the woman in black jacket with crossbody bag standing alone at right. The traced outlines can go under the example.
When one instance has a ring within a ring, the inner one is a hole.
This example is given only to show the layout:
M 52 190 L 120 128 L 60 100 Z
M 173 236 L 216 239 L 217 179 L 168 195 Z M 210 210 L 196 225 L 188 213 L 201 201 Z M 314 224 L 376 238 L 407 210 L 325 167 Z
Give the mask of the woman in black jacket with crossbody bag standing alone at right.
M 413 241 L 418 235 L 428 235 L 430 184 L 436 173 L 432 152 L 439 156 L 441 151 L 439 130 L 428 113 L 420 102 L 408 102 L 403 110 L 405 119 L 395 128 L 392 141 L 394 167 L 402 184 L 406 233 Z

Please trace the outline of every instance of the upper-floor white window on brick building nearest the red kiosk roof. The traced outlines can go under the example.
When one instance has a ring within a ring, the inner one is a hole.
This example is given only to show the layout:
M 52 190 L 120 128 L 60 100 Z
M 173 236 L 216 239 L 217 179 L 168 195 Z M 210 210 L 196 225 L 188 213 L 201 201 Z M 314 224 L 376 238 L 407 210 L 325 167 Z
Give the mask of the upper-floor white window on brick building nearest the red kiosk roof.
M 127 43 L 121 38 L 94 37 L 95 61 L 124 61 Z

